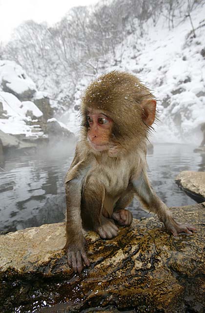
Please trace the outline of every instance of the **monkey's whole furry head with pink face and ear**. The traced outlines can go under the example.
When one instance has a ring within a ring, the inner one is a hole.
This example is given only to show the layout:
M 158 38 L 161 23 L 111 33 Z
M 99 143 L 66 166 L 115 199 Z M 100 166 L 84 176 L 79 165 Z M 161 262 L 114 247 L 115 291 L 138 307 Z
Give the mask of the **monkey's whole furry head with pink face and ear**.
M 82 138 L 97 155 L 122 156 L 146 140 L 155 112 L 154 96 L 137 77 L 112 71 L 82 95 Z

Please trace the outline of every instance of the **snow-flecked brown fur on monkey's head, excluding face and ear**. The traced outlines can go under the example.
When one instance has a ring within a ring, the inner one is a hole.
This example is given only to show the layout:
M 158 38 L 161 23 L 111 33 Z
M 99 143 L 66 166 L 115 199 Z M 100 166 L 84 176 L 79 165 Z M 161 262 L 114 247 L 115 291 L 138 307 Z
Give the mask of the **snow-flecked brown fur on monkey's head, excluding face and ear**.
M 154 98 L 133 74 L 112 71 L 100 76 L 85 90 L 81 107 L 83 124 L 86 125 L 87 108 L 95 108 L 112 118 L 116 139 L 135 139 L 140 143 L 149 130 L 142 120 L 142 104 Z M 83 135 L 86 138 L 86 130 Z

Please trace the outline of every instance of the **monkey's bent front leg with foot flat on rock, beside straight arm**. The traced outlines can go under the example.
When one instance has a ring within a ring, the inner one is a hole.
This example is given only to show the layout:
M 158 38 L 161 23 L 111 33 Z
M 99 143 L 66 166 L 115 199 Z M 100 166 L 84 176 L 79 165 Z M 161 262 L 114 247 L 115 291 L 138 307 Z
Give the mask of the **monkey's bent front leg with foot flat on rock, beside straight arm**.
M 102 215 L 105 191 L 98 181 L 86 182 L 82 199 L 82 221 L 86 227 L 96 231 L 101 238 L 111 239 L 118 235 L 118 227 L 111 219 Z

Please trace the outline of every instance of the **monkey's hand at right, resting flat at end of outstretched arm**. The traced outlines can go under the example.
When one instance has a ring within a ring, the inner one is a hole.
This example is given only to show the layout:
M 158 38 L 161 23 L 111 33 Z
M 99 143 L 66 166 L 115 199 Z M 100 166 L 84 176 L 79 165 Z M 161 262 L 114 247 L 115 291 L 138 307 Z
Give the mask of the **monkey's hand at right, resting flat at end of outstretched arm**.
M 174 221 L 171 216 L 164 221 L 164 226 L 174 237 L 178 237 L 178 234 L 180 233 L 191 235 L 192 233 L 197 232 L 196 227 L 189 224 L 179 224 Z

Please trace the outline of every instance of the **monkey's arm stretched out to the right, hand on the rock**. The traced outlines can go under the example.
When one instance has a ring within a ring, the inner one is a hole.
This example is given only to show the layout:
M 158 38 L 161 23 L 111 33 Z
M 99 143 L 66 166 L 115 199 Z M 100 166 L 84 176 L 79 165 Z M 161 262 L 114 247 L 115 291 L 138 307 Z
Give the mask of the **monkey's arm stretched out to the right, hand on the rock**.
M 175 237 L 179 233 L 192 234 L 196 228 L 189 224 L 178 224 L 171 216 L 171 212 L 164 202 L 156 195 L 152 189 L 146 172 L 142 171 L 138 179 L 132 179 L 134 189 L 144 206 L 153 213 L 156 213 L 166 229 Z

